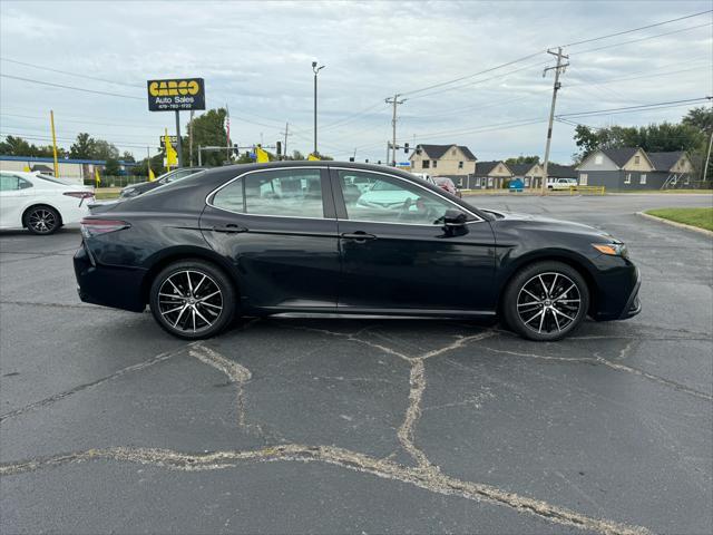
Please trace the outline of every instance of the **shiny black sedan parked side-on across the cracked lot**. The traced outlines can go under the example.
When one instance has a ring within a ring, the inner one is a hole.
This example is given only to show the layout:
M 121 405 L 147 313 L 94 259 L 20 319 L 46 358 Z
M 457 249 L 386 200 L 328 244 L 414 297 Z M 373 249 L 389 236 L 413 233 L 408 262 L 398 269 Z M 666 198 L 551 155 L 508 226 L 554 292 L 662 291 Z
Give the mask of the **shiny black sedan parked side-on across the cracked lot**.
M 81 224 L 82 301 L 140 312 L 180 338 L 238 315 L 500 318 L 558 340 L 586 315 L 639 312 L 609 234 L 478 210 L 392 168 L 335 162 L 222 167 Z

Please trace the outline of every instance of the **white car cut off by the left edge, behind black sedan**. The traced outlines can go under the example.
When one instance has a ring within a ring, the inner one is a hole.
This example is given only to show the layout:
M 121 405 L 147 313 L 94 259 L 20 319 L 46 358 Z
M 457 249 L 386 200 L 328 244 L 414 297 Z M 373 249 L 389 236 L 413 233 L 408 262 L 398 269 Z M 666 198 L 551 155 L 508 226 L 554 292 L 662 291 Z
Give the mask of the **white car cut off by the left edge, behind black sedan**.
M 0 228 L 51 234 L 89 215 L 94 189 L 39 173 L 0 172 Z

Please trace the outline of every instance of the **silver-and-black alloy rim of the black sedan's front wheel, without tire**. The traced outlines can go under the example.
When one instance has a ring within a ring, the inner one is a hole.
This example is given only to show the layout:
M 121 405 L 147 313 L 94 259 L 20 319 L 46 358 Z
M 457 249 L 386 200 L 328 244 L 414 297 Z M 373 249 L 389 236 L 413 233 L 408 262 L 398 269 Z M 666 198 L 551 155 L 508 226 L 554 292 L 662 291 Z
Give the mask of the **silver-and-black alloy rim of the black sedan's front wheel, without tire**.
M 531 331 L 566 331 L 579 315 L 582 294 L 577 284 L 557 272 L 539 273 L 529 279 L 517 296 L 517 313 Z

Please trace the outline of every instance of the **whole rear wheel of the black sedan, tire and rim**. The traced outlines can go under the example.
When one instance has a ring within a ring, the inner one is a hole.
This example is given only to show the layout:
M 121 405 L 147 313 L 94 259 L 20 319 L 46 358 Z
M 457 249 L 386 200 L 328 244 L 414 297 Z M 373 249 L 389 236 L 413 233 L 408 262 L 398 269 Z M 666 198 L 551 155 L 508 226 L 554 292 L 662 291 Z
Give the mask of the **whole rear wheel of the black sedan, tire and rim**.
M 184 260 L 156 275 L 149 290 L 149 305 L 166 332 L 185 340 L 203 340 L 232 323 L 236 292 L 231 279 L 216 265 L 197 259 Z

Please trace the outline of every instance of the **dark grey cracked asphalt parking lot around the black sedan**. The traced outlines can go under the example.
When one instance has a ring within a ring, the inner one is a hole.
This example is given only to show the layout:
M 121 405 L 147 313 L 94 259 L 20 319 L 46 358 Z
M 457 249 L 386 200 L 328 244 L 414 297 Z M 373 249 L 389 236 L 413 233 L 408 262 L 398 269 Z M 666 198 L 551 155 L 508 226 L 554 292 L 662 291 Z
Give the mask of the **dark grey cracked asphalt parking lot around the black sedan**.
M 78 301 L 77 228 L 1 233 L 0 532 L 712 533 L 713 242 L 634 215 L 711 196 L 471 200 L 626 241 L 643 312 L 186 343 Z

